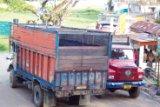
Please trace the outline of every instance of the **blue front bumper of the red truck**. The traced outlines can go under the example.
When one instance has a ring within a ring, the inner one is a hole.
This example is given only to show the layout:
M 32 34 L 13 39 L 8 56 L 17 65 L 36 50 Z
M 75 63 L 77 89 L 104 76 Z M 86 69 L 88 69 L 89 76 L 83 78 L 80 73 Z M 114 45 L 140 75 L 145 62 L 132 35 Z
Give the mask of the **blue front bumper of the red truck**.
M 136 81 L 136 82 L 107 82 L 107 89 L 124 89 L 125 85 L 130 85 L 131 87 L 140 87 L 144 86 L 144 81 Z

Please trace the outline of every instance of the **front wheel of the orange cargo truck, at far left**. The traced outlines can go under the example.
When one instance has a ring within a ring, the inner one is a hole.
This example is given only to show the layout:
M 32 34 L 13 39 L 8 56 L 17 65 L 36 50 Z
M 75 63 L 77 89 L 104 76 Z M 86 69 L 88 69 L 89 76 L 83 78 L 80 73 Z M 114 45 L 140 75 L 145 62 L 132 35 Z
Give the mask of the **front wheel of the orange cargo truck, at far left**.
M 15 74 L 13 72 L 13 69 L 10 70 L 9 79 L 10 79 L 10 86 L 11 86 L 11 88 L 16 88 L 18 83 L 17 83 L 17 77 L 15 76 Z

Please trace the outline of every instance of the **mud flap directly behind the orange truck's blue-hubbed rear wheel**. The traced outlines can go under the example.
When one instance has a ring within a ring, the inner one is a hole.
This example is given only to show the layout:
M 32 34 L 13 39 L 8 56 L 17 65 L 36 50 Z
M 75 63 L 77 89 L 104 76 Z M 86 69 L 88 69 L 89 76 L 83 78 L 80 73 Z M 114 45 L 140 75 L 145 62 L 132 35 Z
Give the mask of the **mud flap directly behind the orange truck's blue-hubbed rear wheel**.
M 56 97 L 52 92 L 44 92 L 43 107 L 56 107 Z

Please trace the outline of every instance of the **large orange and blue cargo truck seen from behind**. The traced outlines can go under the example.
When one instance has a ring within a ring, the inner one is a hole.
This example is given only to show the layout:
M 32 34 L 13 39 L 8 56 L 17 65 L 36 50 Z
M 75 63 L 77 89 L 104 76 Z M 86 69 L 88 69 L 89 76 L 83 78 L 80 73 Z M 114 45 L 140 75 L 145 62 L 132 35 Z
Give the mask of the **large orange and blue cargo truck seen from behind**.
M 111 44 L 109 32 L 14 23 L 10 86 L 32 89 L 37 107 L 78 105 L 105 93 Z

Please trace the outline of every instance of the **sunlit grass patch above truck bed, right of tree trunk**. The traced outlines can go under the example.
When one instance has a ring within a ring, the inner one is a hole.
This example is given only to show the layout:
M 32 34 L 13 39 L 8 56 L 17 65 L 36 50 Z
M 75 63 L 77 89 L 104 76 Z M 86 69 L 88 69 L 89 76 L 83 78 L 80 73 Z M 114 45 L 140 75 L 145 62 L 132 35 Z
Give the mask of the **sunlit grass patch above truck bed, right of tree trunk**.
M 73 10 L 63 21 L 64 26 L 89 28 L 94 27 L 100 10 L 82 9 Z

